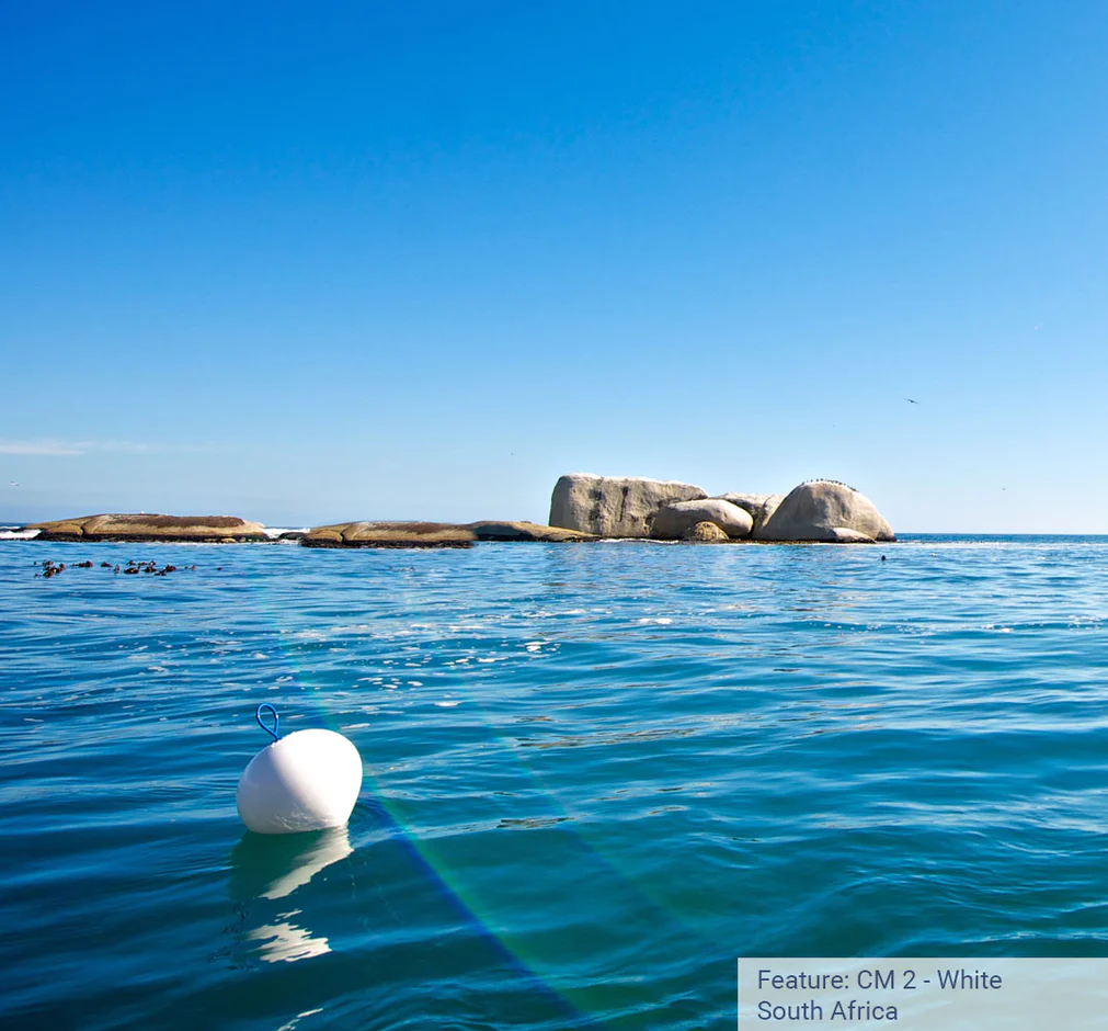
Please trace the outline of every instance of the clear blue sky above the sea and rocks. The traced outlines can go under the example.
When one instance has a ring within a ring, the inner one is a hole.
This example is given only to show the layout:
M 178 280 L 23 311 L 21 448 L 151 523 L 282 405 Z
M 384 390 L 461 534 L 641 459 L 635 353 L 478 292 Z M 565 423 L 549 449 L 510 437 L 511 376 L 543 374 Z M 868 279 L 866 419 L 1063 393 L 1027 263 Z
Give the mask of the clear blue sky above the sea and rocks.
M 1108 532 L 1106 55 L 1102 0 L 0 0 L 0 519 L 579 470 Z

